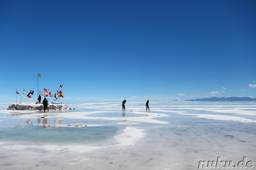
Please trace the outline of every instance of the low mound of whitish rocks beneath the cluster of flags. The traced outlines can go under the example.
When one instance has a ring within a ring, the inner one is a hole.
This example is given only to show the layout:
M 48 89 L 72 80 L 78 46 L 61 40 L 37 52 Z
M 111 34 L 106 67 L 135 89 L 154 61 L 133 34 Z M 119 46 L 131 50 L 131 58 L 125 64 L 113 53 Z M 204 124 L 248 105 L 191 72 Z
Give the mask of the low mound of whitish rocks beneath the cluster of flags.
M 43 110 L 43 104 L 11 104 L 7 110 Z M 65 110 L 68 105 L 64 104 L 48 104 L 49 110 Z

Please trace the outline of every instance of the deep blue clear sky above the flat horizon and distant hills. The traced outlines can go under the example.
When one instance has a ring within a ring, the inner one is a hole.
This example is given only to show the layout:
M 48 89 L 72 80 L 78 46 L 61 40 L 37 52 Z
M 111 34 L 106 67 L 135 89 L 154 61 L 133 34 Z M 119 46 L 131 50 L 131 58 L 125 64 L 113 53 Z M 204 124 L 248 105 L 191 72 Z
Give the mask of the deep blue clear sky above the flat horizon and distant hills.
M 0 100 L 256 97 L 255 0 L 0 1 Z M 20 96 L 18 96 L 20 97 Z

